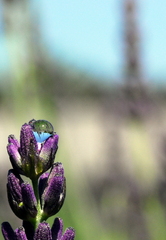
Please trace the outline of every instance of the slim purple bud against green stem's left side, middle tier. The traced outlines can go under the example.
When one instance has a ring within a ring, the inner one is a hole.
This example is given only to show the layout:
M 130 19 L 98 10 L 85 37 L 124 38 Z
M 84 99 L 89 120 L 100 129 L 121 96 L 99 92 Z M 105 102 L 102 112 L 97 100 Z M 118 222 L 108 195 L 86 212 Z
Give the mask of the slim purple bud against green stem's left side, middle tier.
M 32 186 L 29 183 L 22 183 L 22 198 L 24 206 L 31 217 L 37 215 L 37 201 Z

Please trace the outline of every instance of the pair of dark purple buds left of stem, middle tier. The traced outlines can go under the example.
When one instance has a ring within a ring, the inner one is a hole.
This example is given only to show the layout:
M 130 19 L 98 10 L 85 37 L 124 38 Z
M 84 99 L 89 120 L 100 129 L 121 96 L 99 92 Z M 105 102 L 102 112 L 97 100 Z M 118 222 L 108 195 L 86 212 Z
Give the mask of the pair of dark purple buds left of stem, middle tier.
M 15 170 L 9 170 L 7 194 L 10 207 L 18 218 L 28 220 L 36 217 L 37 202 L 33 189 Z

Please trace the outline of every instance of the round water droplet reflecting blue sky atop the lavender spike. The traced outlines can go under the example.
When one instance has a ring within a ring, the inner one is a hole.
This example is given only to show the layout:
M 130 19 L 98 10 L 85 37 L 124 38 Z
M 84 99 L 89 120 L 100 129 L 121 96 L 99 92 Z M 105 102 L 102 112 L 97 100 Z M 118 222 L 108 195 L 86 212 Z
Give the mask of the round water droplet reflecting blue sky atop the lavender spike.
M 32 119 L 29 124 L 33 128 L 33 134 L 36 141 L 39 143 L 47 140 L 54 132 L 52 124 L 46 120 L 34 120 Z

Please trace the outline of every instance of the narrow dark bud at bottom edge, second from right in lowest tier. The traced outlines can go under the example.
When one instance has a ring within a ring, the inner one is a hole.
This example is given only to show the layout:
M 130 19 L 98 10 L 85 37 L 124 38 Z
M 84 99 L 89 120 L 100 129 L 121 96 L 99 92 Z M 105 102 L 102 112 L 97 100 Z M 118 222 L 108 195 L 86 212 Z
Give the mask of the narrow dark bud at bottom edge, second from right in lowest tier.
M 55 218 L 51 228 L 52 240 L 60 239 L 63 232 L 63 221 L 60 218 Z

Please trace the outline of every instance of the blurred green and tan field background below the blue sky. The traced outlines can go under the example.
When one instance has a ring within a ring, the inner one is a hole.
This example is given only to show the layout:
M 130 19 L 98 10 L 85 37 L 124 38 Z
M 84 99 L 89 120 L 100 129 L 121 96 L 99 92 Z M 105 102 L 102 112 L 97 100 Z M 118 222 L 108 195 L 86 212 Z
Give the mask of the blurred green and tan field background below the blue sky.
M 56 161 L 67 178 L 57 216 L 76 229 L 76 240 L 166 239 L 165 89 L 103 83 L 55 61 L 28 1 L 6 0 L 3 11 L 9 66 L 0 72 L 1 222 L 21 225 L 6 197 L 7 137 L 19 139 L 22 124 L 45 119 L 60 135 Z

